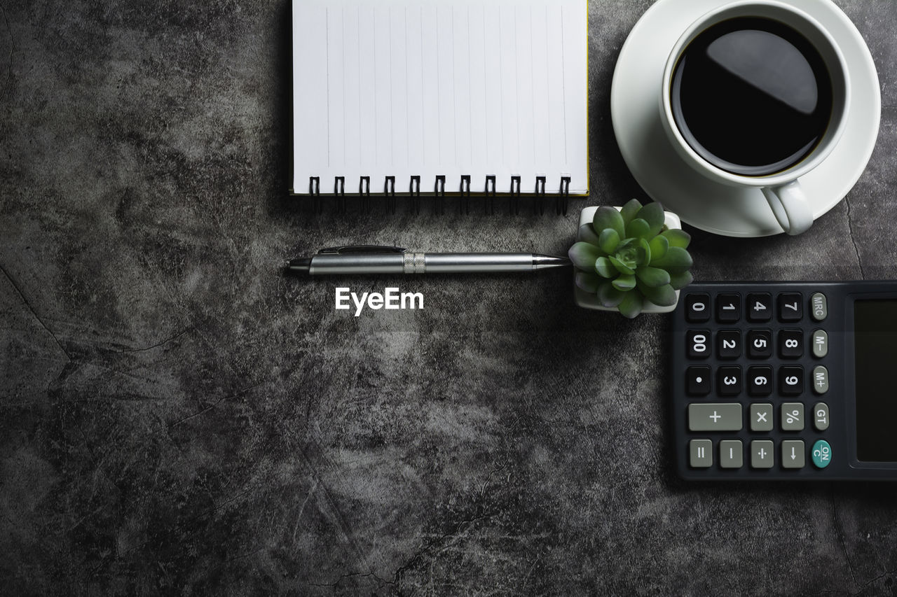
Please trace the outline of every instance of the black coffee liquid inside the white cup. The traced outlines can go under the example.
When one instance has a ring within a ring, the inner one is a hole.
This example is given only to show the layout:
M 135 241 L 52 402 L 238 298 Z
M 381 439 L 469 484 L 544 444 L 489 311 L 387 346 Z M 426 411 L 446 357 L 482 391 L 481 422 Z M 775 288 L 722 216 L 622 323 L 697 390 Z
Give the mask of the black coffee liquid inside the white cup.
M 703 31 L 675 66 L 675 124 L 704 160 L 766 176 L 803 160 L 832 117 L 832 80 L 803 35 L 739 17 Z

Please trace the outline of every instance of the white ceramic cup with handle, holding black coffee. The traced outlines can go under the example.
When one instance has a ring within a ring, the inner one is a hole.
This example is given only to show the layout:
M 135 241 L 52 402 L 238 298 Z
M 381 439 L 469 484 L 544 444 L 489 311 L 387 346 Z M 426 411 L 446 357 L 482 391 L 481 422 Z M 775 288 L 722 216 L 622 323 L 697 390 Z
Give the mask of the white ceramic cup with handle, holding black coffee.
M 803 160 L 787 169 L 768 176 L 745 176 L 720 169 L 692 149 L 675 124 L 672 108 L 672 83 L 675 67 L 685 48 L 712 25 L 736 17 L 761 17 L 784 23 L 806 37 L 823 58 L 832 80 L 832 117 L 823 134 Z M 813 225 L 814 215 L 810 203 L 800 186 L 799 178 L 819 166 L 832 152 L 847 125 L 850 103 L 850 86 L 847 63 L 838 45 L 823 26 L 809 14 L 794 6 L 775 0 L 745 0 L 726 4 L 703 14 L 692 22 L 676 41 L 666 60 L 660 88 L 660 121 L 675 150 L 685 162 L 703 176 L 728 186 L 751 186 L 762 190 L 771 210 L 782 229 L 788 234 L 800 234 Z M 708 201 L 712 198 L 708 197 Z

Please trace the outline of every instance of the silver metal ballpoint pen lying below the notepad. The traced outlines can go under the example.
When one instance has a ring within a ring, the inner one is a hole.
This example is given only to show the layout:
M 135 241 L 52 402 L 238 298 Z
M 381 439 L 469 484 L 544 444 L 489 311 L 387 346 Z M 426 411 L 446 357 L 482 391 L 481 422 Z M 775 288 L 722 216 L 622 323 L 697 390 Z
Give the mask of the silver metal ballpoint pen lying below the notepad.
M 567 257 L 537 253 L 411 253 L 401 247 L 329 247 L 292 259 L 287 273 L 503 273 L 570 265 Z

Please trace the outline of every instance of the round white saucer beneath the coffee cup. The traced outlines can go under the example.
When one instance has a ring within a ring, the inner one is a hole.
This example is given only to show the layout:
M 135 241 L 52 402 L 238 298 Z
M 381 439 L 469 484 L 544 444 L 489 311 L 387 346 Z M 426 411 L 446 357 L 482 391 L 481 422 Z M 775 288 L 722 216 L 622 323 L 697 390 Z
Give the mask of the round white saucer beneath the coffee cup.
M 850 74 L 847 128 L 828 158 L 800 178 L 814 218 L 854 186 L 875 148 L 881 117 L 878 74 L 869 48 L 832 0 L 786 0 L 820 22 L 838 42 Z M 682 31 L 727 0 L 658 0 L 632 28 L 614 70 L 611 117 L 623 160 L 648 195 L 695 228 L 729 237 L 783 230 L 756 188 L 724 186 L 701 176 L 675 152 L 660 123 L 658 89 L 666 58 Z

